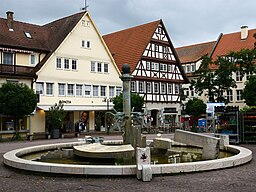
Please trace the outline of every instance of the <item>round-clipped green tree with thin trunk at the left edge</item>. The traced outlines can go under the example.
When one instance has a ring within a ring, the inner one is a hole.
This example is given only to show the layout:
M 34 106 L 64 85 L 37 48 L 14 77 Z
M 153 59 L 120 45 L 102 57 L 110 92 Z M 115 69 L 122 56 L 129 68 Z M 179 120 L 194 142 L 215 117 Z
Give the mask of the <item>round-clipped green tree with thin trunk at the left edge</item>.
M 26 84 L 4 83 L 0 88 L 0 111 L 14 117 L 16 133 L 19 119 L 31 114 L 37 105 L 37 95 Z

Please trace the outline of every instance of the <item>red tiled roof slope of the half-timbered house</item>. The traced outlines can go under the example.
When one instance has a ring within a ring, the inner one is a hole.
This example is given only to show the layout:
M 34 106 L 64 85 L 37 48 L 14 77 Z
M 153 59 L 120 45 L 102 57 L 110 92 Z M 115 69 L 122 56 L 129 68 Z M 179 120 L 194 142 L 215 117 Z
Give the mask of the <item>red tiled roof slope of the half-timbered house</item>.
M 130 65 L 131 72 L 134 71 L 160 22 L 157 20 L 103 36 L 120 71 L 125 63 Z

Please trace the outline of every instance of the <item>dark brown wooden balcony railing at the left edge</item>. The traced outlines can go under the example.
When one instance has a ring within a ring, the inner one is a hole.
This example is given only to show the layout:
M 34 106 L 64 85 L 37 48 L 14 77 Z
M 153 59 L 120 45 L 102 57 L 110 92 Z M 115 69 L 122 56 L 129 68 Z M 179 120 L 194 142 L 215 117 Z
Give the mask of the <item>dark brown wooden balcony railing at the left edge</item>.
M 33 77 L 35 76 L 33 69 L 34 67 L 0 64 L 0 75 Z

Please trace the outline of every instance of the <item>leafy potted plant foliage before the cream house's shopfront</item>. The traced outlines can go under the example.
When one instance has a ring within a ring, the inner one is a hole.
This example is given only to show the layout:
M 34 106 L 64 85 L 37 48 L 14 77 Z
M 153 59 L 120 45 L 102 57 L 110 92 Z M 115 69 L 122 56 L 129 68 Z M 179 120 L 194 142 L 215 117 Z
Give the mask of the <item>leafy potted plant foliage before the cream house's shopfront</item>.
M 51 129 L 60 129 L 63 123 L 63 120 L 66 116 L 66 112 L 63 109 L 63 102 L 55 103 L 49 108 L 49 123 Z

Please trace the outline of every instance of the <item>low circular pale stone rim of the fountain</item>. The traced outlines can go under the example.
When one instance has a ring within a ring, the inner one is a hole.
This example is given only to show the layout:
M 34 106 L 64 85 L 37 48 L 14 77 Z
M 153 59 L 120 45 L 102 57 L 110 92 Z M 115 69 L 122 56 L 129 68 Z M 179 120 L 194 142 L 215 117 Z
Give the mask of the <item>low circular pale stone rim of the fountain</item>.
M 84 143 L 60 143 L 40 145 L 34 147 L 27 147 L 16 149 L 4 154 L 4 164 L 17 169 L 46 172 L 54 174 L 73 174 L 73 175 L 136 175 L 136 165 L 70 165 L 70 164 L 55 164 L 36 162 L 20 158 L 23 155 L 55 150 L 60 148 L 72 148 L 73 146 L 81 145 Z M 151 165 L 152 174 L 171 174 L 171 173 L 186 173 L 216 170 L 229 167 L 235 167 L 245 164 L 252 159 L 252 152 L 249 149 L 240 146 L 227 145 L 226 150 L 235 152 L 237 155 L 207 161 L 198 161 L 191 163 L 178 163 L 178 164 L 157 164 Z

